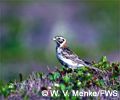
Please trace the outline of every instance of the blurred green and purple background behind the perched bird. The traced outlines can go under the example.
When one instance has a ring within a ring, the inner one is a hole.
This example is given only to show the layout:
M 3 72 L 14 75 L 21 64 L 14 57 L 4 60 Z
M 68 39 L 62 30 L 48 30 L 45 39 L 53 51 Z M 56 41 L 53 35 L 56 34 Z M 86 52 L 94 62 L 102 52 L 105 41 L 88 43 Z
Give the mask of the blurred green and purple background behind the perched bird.
M 120 0 L 0 0 L 0 80 L 61 66 L 52 38 L 81 58 L 120 61 Z

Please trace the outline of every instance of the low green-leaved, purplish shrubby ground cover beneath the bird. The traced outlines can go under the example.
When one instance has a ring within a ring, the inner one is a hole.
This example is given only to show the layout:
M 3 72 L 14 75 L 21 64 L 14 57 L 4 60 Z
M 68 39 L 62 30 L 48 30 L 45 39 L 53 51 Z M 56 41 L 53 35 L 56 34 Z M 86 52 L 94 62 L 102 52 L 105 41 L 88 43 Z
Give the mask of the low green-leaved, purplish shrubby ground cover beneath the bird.
M 79 91 L 96 91 L 99 90 L 116 90 L 120 91 L 120 64 L 110 63 L 106 57 L 95 63 L 93 66 L 101 69 L 103 72 L 97 72 L 87 67 L 77 68 L 75 70 L 65 68 L 57 68 L 47 75 L 41 72 L 32 73 L 26 80 L 22 80 L 20 75 L 20 82 L 9 82 L 6 85 L 0 83 L 0 98 L 7 98 L 8 100 L 49 100 L 49 99 L 93 99 L 102 98 L 118 99 L 119 96 L 76 96 L 64 95 L 62 91 L 68 91 L 70 94 L 72 90 Z M 42 94 L 42 91 L 48 91 L 47 96 Z M 59 96 L 51 95 L 51 90 L 59 90 Z

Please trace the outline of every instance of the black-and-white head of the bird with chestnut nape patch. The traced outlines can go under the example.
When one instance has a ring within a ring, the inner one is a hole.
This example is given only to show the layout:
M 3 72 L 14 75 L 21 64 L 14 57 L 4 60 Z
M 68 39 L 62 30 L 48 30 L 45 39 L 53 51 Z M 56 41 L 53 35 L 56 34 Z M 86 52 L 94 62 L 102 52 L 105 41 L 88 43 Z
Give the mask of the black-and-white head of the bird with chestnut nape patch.
M 67 47 L 66 39 L 62 36 L 55 36 L 53 40 L 56 42 L 58 47 L 65 48 Z

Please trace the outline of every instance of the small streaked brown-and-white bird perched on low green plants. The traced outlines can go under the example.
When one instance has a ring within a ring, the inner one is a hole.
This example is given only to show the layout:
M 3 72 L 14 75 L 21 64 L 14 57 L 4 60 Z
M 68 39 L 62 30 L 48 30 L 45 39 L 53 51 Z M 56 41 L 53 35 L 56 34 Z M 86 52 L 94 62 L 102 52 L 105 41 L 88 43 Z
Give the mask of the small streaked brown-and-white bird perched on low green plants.
M 103 72 L 102 70 L 93 67 L 88 61 L 80 59 L 67 45 L 67 40 L 63 36 L 55 36 L 53 40 L 56 42 L 56 56 L 59 62 L 71 69 L 77 69 L 79 67 L 88 67 L 90 69 Z

